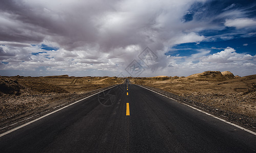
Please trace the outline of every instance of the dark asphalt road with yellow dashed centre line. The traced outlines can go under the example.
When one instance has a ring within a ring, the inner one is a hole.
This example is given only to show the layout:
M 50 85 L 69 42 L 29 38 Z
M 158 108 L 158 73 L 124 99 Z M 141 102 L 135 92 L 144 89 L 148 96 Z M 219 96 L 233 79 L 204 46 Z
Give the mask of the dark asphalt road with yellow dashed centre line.
M 0 137 L 0 152 L 256 152 L 256 136 L 124 84 Z

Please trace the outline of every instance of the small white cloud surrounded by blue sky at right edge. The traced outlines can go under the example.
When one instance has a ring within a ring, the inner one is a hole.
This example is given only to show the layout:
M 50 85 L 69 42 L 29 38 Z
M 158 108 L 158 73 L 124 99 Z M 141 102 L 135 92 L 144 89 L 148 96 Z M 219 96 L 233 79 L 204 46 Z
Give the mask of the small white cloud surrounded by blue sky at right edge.
M 226 19 L 225 25 L 227 27 L 241 28 L 255 28 L 256 19 L 253 18 L 237 18 L 237 19 Z

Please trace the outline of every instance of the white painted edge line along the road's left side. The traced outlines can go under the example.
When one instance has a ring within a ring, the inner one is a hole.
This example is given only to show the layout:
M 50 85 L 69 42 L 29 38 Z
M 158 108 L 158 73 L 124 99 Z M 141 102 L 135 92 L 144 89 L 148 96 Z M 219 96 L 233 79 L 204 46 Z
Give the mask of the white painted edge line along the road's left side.
M 116 86 L 118 86 L 118 85 L 115 85 L 115 86 L 110 87 L 110 88 L 108 88 L 108 89 L 114 88 L 114 87 L 116 87 Z M 105 89 L 105 90 L 108 90 L 108 89 Z M 103 92 L 103 91 L 105 91 L 105 90 L 102 90 L 102 91 L 100 91 L 100 92 L 94 93 L 94 94 L 92 94 L 92 95 L 90 95 L 90 96 L 88 96 L 88 97 L 85 97 L 85 98 L 83 98 L 83 99 L 77 100 L 77 101 L 75 101 L 74 103 L 71 103 L 71 104 L 69 104 L 69 105 L 67 105 L 67 106 L 65 106 L 65 107 L 63 107 L 63 108 L 60 108 L 60 109 L 55 110 L 55 111 L 53 111 L 53 112 L 51 112 L 51 113 L 48 113 L 48 114 L 46 114 L 46 115 L 44 115 L 44 116 L 41 116 L 41 117 L 39 117 L 39 118 L 36 118 L 36 119 L 34 119 L 34 120 L 30 121 L 30 122 L 27 122 L 27 123 L 25 123 L 25 124 L 23 124 L 23 125 L 21 125 L 21 126 L 15 127 L 14 129 L 12 129 L 12 130 L 10 130 L 10 131 L 7 131 L 7 132 L 5 132 L 5 133 L 3 133 L 3 134 L 1 134 L 0 137 L 3 137 L 4 135 L 7 135 L 7 134 L 9 134 L 9 133 L 11 133 L 11 132 L 13 132 L 13 131 L 18 130 L 18 129 L 21 129 L 22 127 L 24 127 L 24 126 L 26 126 L 26 125 L 28 125 L 28 124 L 31 124 L 31 123 L 33 123 L 33 122 L 35 122 L 35 121 L 37 121 L 37 120 L 40 120 L 40 119 L 42 119 L 42 118 L 44 118 L 44 117 L 46 117 L 46 116 L 49 116 L 49 115 L 51 115 L 51 114 L 53 114 L 53 113 L 55 113 L 55 112 L 57 112 L 57 111 L 60 111 L 60 110 L 62 110 L 62 109 L 65 109 L 65 108 L 67 108 L 67 107 L 69 107 L 69 106 L 71 106 L 71 105 L 73 105 L 73 104 L 75 104 L 75 103 L 78 103 L 79 101 L 82 101 L 82 100 L 87 99 L 87 98 L 89 98 L 89 97 L 91 97 L 91 96 L 94 96 L 94 95 L 96 95 L 96 94 L 99 94 L 99 93 L 101 93 L 101 92 Z

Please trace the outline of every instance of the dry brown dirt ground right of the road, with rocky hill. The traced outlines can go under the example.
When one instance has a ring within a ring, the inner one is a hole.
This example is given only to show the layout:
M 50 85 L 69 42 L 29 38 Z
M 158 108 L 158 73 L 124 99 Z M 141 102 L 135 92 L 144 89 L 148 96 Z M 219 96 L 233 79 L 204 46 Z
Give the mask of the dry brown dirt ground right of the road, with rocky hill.
M 186 78 L 160 76 L 130 81 L 256 131 L 256 75 L 240 78 L 227 71 L 206 71 Z

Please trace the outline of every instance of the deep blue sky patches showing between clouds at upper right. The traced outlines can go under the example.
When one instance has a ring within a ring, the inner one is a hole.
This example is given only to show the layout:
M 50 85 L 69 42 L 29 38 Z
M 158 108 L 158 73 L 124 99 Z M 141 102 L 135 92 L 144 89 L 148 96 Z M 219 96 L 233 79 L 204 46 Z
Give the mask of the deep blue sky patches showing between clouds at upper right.
M 254 18 L 256 16 L 255 1 L 208 1 L 206 3 L 195 3 L 184 15 L 185 22 L 192 20 L 202 20 L 202 18 L 212 18 L 225 13 L 227 10 L 247 10 L 246 16 Z M 199 13 L 200 12 L 200 13 Z M 197 15 L 200 14 L 200 15 Z M 204 15 L 202 15 L 204 14 Z M 225 17 L 213 19 L 212 24 L 218 24 L 220 27 L 225 22 Z M 256 26 L 256 25 L 255 25 Z M 237 53 L 256 54 L 255 28 L 237 29 L 235 27 L 224 27 L 220 29 L 206 29 L 199 31 L 199 35 L 210 37 L 209 40 L 192 43 L 176 44 L 171 47 L 166 55 L 190 56 L 197 52 L 197 49 L 209 49 L 210 54 L 220 52 L 220 48 L 232 47 Z M 250 34 L 251 35 L 248 35 Z M 226 35 L 227 38 L 221 36 Z M 211 38 L 212 37 L 212 38 Z

